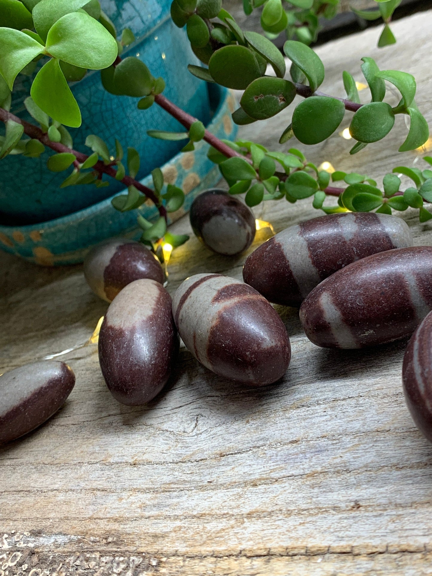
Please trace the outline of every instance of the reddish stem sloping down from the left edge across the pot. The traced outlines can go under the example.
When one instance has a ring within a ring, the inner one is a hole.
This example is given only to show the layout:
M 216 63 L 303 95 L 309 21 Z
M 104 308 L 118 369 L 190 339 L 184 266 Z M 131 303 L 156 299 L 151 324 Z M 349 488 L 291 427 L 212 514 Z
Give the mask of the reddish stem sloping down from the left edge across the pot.
M 18 116 L 15 116 L 11 112 L 7 112 L 6 110 L 3 110 L 3 108 L 0 108 L 0 120 L 2 122 L 7 122 L 7 120 L 13 120 L 17 124 L 21 124 L 21 126 L 24 127 L 24 133 L 26 135 L 28 135 L 30 138 L 33 138 L 35 140 L 39 140 L 39 142 L 43 143 L 45 146 L 48 146 L 48 148 L 51 148 L 51 150 L 54 150 L 57 153 L 67 152 L 70 154 L 74 154 L 74 156 L 77 158 L 77 161 L 79 162 L 79 164 L 83 164 L 88 158 L 88 156 L 86 154 L 83 154 L 82 152 L 78 152 L 78 150 L 73 150 L 71 148 L 68 148 L 67 146 L 65 146 L 61 142 L 52 142 L 50 140 L 50 138 L 48 138 L 48 134 L 43 132 L 40 128 L 38 128 L 37 126 L 34 126 L 34 124 L 30 124 L 29 122 L 25 122 L 25 120 L 21 120 L 20 118 L 18 118 Z M 75 164 L 75 162 L 74 162 L 74 164 Z M 76 164 L 75 164 L 75 166 L 76 166 Z M 107 174 L 108 176 L 111 176 L 112 178 L 115 178 L 116 173 L 117 173 L 116 170 L 114 170 L 111 165 L 106 165 L 101 160 L 98 160 L 92 169 L 96 170 L 96 172 L 98 172 L 100 178 L 102 177 L 103 173 Z M 157 206 L 157 209 L 159 210 L 160 215 L 166 219 L 167 214 L 166 214 L 165 207 L 158 205 L 159 199 L 157 198 L 154 191 L 151 190 L 151 188 L 147 188 L 147 186 L 144 186 L 143 184 L 141 184 L 141 182 L 138 182 L 138 180 L 135 180 L 134 178 L 131 178 L 130 176 L 124 176 L 121 181 L 126 186 L 135 186 L 135 188 L 137 188 L 137 190 L 142 192 L 142 194 L 144 194 L 147 198 L 149 198 L 152 202 L 154 202 L 154 204 Z

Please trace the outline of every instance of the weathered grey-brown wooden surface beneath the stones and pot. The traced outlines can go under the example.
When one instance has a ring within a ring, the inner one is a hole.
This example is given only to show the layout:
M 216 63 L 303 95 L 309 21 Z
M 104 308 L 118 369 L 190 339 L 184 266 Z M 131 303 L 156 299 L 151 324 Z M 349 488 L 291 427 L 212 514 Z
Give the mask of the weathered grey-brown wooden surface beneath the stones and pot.
M 321 47 L 323 90 L 342 94 L 342 70 L 361 81 L 360 58 L 371 55 L 382 69 L 415 74 L 431 123 L 431 21 L 422 13 L 396 22 L 399 44 L 384 50 L 367 48 L 376 29 Z M 241 136 L 280 149 L 289 114 Z M 397 154 L 407 129 L 396 123 L 357 156 L 336 134 L 308 157 L 367 166 L 380 179 L 416 159 Z M 260 210 L 276 232 L 319 214 L 310 200 Z M 417 211 L 403 217 L 416 245 L 432 243 L 432 225 L 419 224 Z M 187 218 L 172 229 L 188 232 Z M 241 278 L 265 237 L 261 230 L 233 258 L 192 237 L 173 253 L 170 293 L 198 272 Z M 85 342 L 107 309 L 81 266 L 37 268 L 6 254 L 0 266 L 3 370 Z M 77 384 L 65 406 L 0 450 L 0 575 L 432 574 L 432 446 L 404 403 L 406 342 L 323 350 L 306 340 L 297 310 L 276 309 L 293 356 L 282 384 L 264 389 L 224 381 L 182 348 L 168 388 L 146 407 L 126 407 L 104 384 L 96 346 L 66 356 Z

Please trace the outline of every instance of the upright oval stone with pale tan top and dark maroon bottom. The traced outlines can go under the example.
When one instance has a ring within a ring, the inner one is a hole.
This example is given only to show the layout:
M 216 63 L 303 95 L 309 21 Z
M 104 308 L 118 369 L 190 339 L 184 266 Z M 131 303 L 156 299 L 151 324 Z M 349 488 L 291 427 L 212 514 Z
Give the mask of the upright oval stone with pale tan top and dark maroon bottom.
M 179 350 L 171 297 L 154 280 L 135 280 L 109 305 L 99 333 L 99 363 L 122 404 L 145 404 L 165 386 Z

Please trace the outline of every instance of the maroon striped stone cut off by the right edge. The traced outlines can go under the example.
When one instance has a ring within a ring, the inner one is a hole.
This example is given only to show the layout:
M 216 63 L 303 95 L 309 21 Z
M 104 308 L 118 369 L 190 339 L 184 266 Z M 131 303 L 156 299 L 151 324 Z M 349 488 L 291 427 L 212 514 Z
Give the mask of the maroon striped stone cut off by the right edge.
M 408 342 L 402 381 L 412 419 L 432 442 L 432 312 L 427 314 Z

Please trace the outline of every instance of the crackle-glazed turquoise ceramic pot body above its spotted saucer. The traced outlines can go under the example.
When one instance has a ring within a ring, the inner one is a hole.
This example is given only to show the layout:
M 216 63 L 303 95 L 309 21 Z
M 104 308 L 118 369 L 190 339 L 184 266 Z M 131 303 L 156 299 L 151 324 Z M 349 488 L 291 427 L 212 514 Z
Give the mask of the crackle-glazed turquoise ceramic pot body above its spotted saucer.
M 101 0 L 101 6 L 120 33 L 132 29 L 136 41 L 122 56 L 138 56 L 151 73 L 166 82 L 165 96 L 207 124 L 209 97 L 205 82 L 187 70 L 188 63 L 198 64 L 184 30 L 177 28 L 169 15 L 170 0 Z M 12 112 L 34 122 L 26 113 L 23 101 L 29 94 L 31 78 L 19 75 Z M 88 134 L 97 134 L 114 149 L 118 138 L 126 149 L 135 147 L 141 157 L 142 178 L 156 166 L 162 166 L 184 145 L 147 137 L 146 130 L 183 130 L 175 119 L 157 105 L 137 109 L 137 98 L 113 96 L 101 85 L 99 71 L 89 71 L 81 82 L 71 86 L 82 112 L 82 126 L 70 129 L 74 147 L 85 153 Z M 7 156 L 1 162 L 0 223 L 21 225 L 45 222 L 96 204 L 121 190 L 122 183 L 109 179 L 109 187 L 74 186 L 59 188 L 67 173 L 53 173 L 46 168 L 47 151 L 40 158 Z

